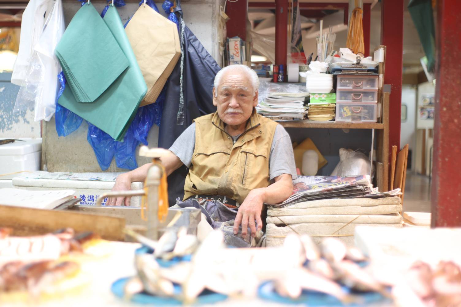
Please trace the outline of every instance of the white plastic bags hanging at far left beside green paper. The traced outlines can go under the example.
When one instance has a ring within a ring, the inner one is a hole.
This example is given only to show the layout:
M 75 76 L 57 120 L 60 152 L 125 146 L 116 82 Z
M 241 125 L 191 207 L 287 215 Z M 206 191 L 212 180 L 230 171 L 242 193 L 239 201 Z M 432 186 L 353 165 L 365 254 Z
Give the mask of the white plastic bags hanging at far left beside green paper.
M 50 120 L 56 109 L 58 73 L 61 71 L 54 49 L 65 30 L 62 1 L 56 0 L 48 15 L 39 41 L 35 44 L 29 67 L 19 89 L 14 111 L 35 108 L 35 121 Z

